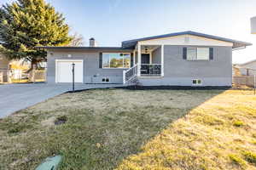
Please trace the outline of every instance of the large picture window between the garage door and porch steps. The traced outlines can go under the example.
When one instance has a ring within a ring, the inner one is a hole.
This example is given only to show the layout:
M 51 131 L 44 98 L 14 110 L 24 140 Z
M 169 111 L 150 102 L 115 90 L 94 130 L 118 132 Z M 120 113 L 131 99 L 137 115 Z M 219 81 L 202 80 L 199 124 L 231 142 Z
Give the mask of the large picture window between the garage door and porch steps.
M 103 68 L 130 68 L 131 54 L 123 53 L 103 53 Z

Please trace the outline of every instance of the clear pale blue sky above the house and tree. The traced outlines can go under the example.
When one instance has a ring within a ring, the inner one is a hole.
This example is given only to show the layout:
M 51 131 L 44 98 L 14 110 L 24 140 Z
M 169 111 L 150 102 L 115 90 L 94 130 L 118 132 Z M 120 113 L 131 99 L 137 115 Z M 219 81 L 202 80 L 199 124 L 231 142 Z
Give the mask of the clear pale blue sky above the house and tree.
M 1 3 L 11 0 L 0 0 Z M 175 31 L 199 31 L 252 42 L 234 51 L 233 63 L 256 59 L 256 35 L 250 18 L 256 0 L 47 0 L 64 14 L 73 32 L 100 46 L 120 46 L 125 40 Z

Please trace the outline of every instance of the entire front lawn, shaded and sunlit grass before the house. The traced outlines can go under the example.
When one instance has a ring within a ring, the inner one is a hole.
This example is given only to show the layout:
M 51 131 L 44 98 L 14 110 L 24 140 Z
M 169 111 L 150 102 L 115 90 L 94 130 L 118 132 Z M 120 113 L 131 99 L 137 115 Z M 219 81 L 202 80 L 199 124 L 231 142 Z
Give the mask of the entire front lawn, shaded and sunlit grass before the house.
M 256 169 L 256 96 L 239 90 L 62 94 L 0 120 L 0 136 L 1 170 L 33 170 L 58 154 L 61 170 Z

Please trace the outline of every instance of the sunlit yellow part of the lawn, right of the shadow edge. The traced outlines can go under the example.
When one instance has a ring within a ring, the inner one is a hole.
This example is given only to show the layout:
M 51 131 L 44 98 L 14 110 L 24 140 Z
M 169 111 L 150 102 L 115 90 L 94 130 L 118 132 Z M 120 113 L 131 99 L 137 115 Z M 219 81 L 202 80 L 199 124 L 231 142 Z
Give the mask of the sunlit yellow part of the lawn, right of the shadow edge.
M 170 124 L 117 169 L 256 169 L 251 142 L 255 105 L 250 91 L 218 94 Z M 251 150 L 247 157 L 245 150 Z

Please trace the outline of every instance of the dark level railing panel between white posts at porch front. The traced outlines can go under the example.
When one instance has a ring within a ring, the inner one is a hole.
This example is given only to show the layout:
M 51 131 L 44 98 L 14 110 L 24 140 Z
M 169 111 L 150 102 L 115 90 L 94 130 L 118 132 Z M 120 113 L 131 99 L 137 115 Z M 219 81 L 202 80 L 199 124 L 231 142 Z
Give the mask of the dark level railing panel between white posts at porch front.
M 160 64 L 141 64 L 142 77 L 160 77 L 161 65 Z

